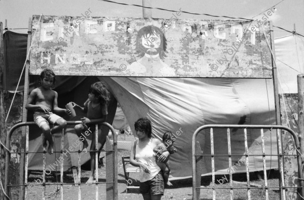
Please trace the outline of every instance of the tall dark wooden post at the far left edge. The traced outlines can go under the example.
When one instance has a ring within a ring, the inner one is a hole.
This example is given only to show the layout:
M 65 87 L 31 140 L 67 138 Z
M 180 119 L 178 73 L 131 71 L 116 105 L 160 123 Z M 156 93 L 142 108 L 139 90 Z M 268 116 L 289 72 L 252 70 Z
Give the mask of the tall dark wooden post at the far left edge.
M 3 97 L 3 70 L 4 70 L 4 42 L 3 42 L 3 24 L 0 22 L 0 140 L 3 144 L 6 144 L 6 127 L 5 127 L 5 112 L 4 112 L 4 97 Z M 4 188 L 5 179 L 5 148 L 0 145 L 0 176 L 1 182 Z M 0 200 L 4 200 L 5 195 L 0 189 Z

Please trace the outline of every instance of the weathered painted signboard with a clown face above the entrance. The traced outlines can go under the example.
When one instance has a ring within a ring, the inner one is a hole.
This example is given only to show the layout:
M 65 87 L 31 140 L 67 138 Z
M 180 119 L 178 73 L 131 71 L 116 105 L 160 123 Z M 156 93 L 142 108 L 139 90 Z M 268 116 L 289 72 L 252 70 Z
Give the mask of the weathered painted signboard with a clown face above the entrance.
M 272 77 L 270 23 L 33 16 L 30 73 Z

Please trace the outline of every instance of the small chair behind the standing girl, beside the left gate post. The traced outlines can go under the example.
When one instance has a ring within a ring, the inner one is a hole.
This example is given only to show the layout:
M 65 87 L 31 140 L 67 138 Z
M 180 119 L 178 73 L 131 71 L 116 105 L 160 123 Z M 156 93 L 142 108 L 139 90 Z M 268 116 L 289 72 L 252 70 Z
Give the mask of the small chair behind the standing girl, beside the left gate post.
M 130 157 L 123 156 L 123 167 L 125 173 L 125 181 L 126 181 L 126 193 L 129 191 L 139 191 L 139 184 L 133 183 L 133 181 L 129 178 L 130 173 L 139 173 L 139 167 L 134 167 L 130 165 Z

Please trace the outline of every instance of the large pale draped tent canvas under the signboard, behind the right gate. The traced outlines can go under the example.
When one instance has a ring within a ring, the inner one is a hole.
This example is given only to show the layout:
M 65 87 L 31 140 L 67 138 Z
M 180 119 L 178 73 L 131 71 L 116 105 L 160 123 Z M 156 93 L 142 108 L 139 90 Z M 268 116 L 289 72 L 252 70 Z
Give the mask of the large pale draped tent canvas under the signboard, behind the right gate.
M 177 153 L 170 157 L 171 179 L 192 176 L 191 141 L 194 131 L 205 124 L 274 124 L 275 109 L 272 79 L 228 78 L 118 78 L 102 77 L 130 122 L 147 116 L 153 136 L 166 130 L 175 133 Z M 131 126 L 134 132 L 134 126 Z M 179 131 L 179 136 L 177 135 Z M 276 154 L 276 134 L 265 130 L 267 154 Z M 261 153 L 260 131 L 247 131 L 249 150 Z M 232 154 L 244 154 L 243 130 L 232 130 Z M 205 131 L 198 141 L 210 155 L 210 135 Z M 227 154 L 226 130 L 214 130 L 215 154 Z M 211 172 L 210 157 L 204 157 L 204 175 Z M 233 157 L 233 163 L 241 157 Z M 277 157 L 267 156 L 267 169 L 277 168 Z M 216 174 L 227 174 L 228 157 L 215 157 Z M 234 173 L 246 172 L 240 163 Z M 250 171 L 260 171 L 262 158 L 249 157 Z

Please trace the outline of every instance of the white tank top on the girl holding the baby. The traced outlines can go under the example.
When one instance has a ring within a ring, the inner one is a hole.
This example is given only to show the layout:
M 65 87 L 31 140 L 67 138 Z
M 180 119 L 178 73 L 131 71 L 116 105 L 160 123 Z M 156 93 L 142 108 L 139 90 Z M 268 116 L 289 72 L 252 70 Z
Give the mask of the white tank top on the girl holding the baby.
M 151 138 L 143 148 L 138 146 L 138 140 L 136 143 L 135 159 L 138 162 L 147 165 L 148 170 L 150 171 L 150 173 L 146 173 L 140 168 L 140 182 L 153 179 L 161 171 L 161 168 L 156 164 L 155 153 L 153 152 L 153 148 L 155 148 L 156 145 L 153 144 L 152 140 L 153 139 Z

